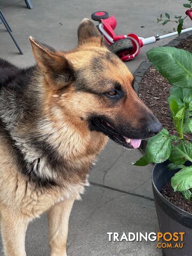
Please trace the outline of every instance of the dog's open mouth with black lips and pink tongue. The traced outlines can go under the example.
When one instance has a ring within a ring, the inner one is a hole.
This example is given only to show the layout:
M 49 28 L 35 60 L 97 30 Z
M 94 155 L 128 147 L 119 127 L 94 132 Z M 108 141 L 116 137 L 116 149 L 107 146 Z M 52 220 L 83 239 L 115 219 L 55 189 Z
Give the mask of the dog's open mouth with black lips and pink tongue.
M 100 117 L 94 117 L 91 119 L 91 130 L 96 130 L 106 134 L 111 140 L 126 148 L 139 148 L 141 145 L 141 139 L 125 137 L 121 133 L 117 132 L 109 122 Z

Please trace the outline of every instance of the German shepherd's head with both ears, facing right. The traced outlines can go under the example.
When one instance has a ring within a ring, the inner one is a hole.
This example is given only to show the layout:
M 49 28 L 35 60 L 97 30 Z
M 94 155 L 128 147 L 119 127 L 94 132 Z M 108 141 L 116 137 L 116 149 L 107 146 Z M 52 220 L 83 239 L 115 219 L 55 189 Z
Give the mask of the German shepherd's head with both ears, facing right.
M 127 148 L 139 147 L 141 139 L 162 129 L 134 92 L 133 75 L 89 19 L 79 25 L 73 51 L 30 41 L 52 107 L 63 110 L 77 129 L 104 133 Z

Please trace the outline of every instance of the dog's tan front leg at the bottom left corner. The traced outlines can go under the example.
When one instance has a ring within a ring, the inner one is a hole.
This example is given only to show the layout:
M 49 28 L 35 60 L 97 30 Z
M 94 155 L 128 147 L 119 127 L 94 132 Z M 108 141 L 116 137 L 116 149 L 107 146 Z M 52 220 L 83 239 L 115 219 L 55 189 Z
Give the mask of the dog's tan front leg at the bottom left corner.
M 29 219 L 12 210 L 1 211 L 1 233 L 5 256 L 26 256 L 25 237 Z

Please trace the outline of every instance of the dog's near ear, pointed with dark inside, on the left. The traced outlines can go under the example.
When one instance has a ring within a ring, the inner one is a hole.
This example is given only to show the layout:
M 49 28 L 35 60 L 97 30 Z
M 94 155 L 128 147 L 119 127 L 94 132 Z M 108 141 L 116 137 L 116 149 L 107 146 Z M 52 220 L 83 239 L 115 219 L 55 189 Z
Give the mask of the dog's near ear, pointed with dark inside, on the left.
M 74 81 L 74 69 L 65 54 L 29 37 L 38 67 L 58 89 Z

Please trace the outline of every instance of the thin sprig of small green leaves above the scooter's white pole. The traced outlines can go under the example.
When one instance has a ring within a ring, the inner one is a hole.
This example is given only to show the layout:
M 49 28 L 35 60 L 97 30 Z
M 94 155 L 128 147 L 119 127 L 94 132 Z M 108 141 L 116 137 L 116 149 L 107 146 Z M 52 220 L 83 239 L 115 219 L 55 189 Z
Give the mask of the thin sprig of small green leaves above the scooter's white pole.
M 188 9 L 192 9 L 192 0 L 188 0 L 187 4 L 183 4 L 183 7 L 188 8 Z M 170 14 L 169 13 L 165 13 L 165 19 L 163 18 L 163 14 L 160 15 L 159 18 L 157 18 L 157 23 L 158 22 L 162 22 L 162 25 L 166 25 L 168 22 L 175 22 L 177 23 L 177 31 L 178 34 L 181 34 L 181 30 L 183 29 L 183 22 L 184 20 L 188 17 L 188 15 L 186 15 L 185 17 L 182 17 L 182 15 L 174 15 L 174 18 L 171 19 L 170 18 Z

